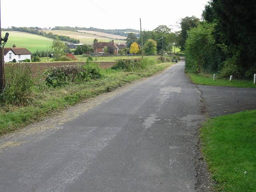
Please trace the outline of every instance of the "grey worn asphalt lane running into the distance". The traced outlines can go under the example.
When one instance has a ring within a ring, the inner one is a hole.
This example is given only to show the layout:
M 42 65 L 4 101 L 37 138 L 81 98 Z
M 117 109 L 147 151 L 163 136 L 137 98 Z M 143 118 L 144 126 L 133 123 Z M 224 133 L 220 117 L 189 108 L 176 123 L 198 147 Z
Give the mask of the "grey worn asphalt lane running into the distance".
M 207 91 L 182 61 L 1 137 L 0 191 L 194 192 Z

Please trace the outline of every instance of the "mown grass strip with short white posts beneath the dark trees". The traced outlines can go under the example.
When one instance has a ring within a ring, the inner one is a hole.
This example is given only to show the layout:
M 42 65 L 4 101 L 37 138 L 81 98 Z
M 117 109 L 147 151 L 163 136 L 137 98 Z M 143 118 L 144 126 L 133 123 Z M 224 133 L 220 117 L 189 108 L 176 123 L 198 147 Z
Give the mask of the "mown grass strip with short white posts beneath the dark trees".
M 216 79 L 213 81 L 213 75 L 209 74 L 193 74 L 187 73 L 188 77 L 194 84 L 198 85 L 212 85 L 212 86 L 230 86 L 230 87 L 244 87 L 244 88 L 256 88 L 253 84 L 253 80 L 235 80 L 232 82 L 229 79 Z

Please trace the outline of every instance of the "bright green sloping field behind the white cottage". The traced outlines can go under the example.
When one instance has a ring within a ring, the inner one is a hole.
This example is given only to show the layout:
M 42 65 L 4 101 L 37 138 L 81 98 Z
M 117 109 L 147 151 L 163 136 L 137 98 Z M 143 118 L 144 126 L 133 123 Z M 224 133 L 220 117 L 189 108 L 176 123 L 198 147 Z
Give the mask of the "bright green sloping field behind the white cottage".
M 3 31 L 2 36 L 6 32 L 10 35 L 5 48 L 12 47 L 15 44 L 16 47 L 24 47 L 30 52 L 34 52 L 36 50 L 46 50 L 46 46 L 51 46 L 53 41 L 50 38 L 18 31 Z

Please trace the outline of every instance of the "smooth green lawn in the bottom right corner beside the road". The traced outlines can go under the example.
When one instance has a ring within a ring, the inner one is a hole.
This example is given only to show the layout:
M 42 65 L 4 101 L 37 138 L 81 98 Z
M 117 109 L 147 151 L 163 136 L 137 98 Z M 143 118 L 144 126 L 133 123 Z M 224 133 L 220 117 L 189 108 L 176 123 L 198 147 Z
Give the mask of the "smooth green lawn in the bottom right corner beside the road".
M 212 118 L 200 133 L 202 152 L 217 182 L 215 189 L 255 192 L 256 110 Z

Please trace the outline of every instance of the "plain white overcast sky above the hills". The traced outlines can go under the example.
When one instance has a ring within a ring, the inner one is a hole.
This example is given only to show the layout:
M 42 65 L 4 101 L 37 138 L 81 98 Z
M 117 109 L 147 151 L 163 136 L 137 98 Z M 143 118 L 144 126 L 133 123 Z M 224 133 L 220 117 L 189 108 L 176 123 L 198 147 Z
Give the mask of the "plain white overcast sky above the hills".
M 186 16 L 201 18 L 208 0 L 1 0 L 2 28 L 78 26 L 153 30 L 166 25 L 179 30 Z

